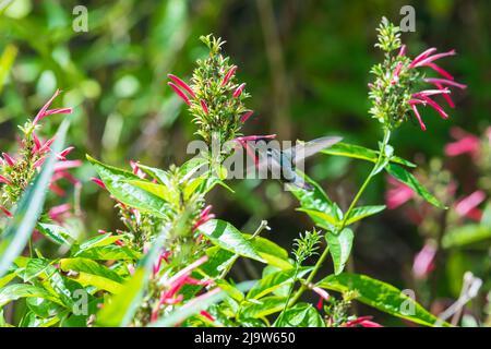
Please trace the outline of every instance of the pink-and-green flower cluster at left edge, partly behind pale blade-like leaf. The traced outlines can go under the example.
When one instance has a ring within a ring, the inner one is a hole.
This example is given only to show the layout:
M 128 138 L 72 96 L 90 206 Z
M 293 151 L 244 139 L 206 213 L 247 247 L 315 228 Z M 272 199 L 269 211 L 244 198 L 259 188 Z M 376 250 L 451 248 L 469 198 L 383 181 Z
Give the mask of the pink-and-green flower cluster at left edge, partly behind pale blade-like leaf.
M 67 115 L 72 112 L 72 108 L 49 109 L 55 98 L 60 94 L 57 91 L 52 97 L 43 106 L 33 120 L 27 121 L 23 127 L 20 127 L 22 132 L 22 140 L 20 142 L 20 149 L 17 156 L 2 153 L 0 157 L 0 209 L 4 215 L 12 217 L 11 207 L 15 205 L 21 194 L 31 183 L 34 176 L 40 170 L 43 164 L 51 153 L 51 144 L 55 137 L 49 140 L 41 140 L 37 135 L 40 128 L 39 122 L 52 115 Z M 51 178 L 50 190 L 59 195 L 64 196 L 64 190 L 58 185 L 59 180 L 68 180 L 73 185 L 80 185 L 80 181 L 75 179 L 69 170 L 81 166 L 81 161 L 68 160 L 67 156 L 73 151 L 70 146 L 57 154 L 59 163 L 55 167 L 55 173 Z M 67 206 L 63 206 L 67 208 Z M 55 207 L 53 207 L 55 208 Z M 61 207 L 58 207 L 61 209 Z M 52 212 L 53 217 L 59 217 L 57 209 Z

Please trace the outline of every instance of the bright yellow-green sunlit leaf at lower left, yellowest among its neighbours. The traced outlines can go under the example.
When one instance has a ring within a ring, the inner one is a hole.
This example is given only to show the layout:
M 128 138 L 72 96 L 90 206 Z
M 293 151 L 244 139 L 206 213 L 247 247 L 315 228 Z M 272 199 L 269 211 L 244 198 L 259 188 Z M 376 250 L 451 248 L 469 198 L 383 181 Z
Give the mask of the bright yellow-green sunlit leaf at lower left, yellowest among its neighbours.
M 63 258 L 60 260 L 60 267 L 63 272 L 76 272 L 70 278 L 84 287 L 94 286 L 111 293 L 121 291 L 123 279 L 116 272 L 92 260 Z

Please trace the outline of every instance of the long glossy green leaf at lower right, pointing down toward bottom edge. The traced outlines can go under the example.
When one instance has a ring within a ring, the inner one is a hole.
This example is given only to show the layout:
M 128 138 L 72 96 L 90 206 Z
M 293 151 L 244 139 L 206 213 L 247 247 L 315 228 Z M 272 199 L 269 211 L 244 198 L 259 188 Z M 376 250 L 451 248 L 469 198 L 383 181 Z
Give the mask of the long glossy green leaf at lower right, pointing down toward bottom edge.
M 366 275 L 348 273 L 331 275 L 321 280 L 318 286 L 338 292 L 357 290 L 359 293 L 357 300 L 360 302 L 420 325 L 433 326 L 436 322 L 434 315 L 394 286 Z

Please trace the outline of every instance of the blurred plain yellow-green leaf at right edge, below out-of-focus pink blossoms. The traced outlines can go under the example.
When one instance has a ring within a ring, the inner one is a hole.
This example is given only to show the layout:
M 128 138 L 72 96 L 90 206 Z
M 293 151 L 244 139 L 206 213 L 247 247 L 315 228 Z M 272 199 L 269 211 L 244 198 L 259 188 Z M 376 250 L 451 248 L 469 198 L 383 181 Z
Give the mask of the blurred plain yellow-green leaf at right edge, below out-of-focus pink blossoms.
M 486 240 L 491 240 L 491 226 L 467 225 L 446 232 L 442 245 L 445 249 L 462 248 Z

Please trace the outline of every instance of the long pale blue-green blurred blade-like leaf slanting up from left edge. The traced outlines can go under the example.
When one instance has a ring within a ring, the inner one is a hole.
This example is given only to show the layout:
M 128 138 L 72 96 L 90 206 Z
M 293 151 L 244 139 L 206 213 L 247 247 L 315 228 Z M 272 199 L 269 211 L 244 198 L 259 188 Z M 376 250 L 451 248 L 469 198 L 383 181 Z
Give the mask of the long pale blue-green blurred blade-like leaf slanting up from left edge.
M 5 274 L 15 257 L 24 250 L 43 212 L 46 192 L 57 163 L 57 154 L 63 147 L 68 128 L 69 121 L 65 119 L 58 129 L 51 146 L 51 154 L 43 165 L 39 174 L 20 198 L 14 217 L 0 236 L 0 277 Z

